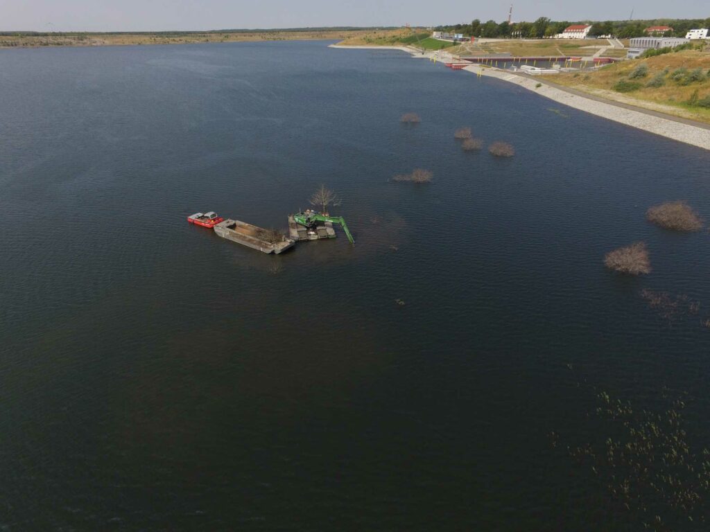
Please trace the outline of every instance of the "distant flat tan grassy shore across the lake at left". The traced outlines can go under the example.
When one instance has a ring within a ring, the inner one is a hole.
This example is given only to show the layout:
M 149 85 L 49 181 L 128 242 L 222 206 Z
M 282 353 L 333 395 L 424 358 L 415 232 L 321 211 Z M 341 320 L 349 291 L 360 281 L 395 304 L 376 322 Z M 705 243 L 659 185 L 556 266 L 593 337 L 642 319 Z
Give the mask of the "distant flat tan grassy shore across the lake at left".
M 185 31 L 155 33 L 0 33 L 0 48 L 43 46 L 120 46 L 189 43 L 235 43 L 263 40 L 341 40 L 368 35 L 372 29 L 298 29 L 263 31 Z

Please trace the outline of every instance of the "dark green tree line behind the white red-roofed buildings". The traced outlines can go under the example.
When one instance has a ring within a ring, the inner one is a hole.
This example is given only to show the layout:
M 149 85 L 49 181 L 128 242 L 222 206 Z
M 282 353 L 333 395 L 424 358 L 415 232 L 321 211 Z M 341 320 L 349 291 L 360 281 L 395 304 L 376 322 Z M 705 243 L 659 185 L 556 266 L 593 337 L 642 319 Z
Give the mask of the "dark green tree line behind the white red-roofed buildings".
M 470 24 L 456 24 L 454 26 L 439 26 L 437 31 L 452 33 L 464 33 L 469 37 L 486 38 L 545 38 L 554 37 L 562 33 L 564 28 L 574 24 L 591 24 L 590 37 L 599 35 L 613 35 L 621 39 L 632 37 L 643 37 L 646 35 L 645 29 L 649 26 L 670 26 L 672 32 L 665 35 L 670 37 L 685 37 L 688 30 L 694 28 L 710 28 L 710 18 L 678 18 L 678 19 L 657 19 L 651 21 L 552 21 L 550 18 L 541 16 L 535 22 L 514 22 L 508 21 L 481 22 L 478 18 Z

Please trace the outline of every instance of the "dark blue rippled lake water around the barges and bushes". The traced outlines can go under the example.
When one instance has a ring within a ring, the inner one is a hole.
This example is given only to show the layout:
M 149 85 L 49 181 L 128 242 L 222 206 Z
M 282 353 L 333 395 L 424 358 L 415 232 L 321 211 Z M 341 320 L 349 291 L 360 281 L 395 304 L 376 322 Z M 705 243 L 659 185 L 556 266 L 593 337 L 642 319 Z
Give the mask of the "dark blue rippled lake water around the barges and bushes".
M 638 530 L 550 445 L 603 436 L 577 382 L 687 391 L 710 442 L 710 236 L 644 220 L 710 217 L 703 150 L 324 43 L 1 50 L 0 89 L 4 530 Z M 321 183 L 354 248 L 185 221 L 285 227 Z M 606 271 L 635 240 L 652 274 Z

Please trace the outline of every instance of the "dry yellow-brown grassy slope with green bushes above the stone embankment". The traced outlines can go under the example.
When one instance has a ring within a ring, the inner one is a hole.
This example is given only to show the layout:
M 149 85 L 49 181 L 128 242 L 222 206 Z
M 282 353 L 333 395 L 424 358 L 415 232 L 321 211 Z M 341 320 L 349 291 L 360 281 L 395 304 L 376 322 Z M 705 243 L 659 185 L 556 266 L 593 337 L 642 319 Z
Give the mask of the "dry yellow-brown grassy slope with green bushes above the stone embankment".
M 710 53 L 684 50 L 545 76 L 595 96 L 710 123 Z

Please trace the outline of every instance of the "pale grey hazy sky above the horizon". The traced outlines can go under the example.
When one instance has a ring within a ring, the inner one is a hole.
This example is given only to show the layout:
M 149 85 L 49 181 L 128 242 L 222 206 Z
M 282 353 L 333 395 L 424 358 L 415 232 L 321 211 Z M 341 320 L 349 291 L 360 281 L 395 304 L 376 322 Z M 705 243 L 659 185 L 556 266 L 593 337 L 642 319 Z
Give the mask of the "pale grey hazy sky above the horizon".
M 707 18 L 708 0 L 513 1 L 513 21 Z M 0 0 L 0 31 L 437 26 L 503 21 L 510 0 Z

